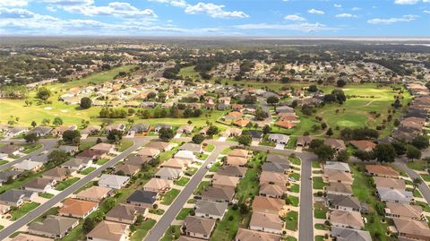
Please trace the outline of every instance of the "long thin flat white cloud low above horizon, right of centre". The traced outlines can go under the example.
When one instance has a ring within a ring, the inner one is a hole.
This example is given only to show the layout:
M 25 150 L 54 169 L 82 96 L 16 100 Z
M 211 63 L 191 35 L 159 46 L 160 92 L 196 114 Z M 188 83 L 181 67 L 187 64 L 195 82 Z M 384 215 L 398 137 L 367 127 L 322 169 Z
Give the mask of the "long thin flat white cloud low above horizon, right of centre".
M 292 24 L 270 24 L 270 23 L 255 23 L 236 25 L 240 30 L 297 30 L 303 32 L 314 32 L 323 30 L 339 30 L 337 28 L 328 27 L 322 23 L 301 22 Z

